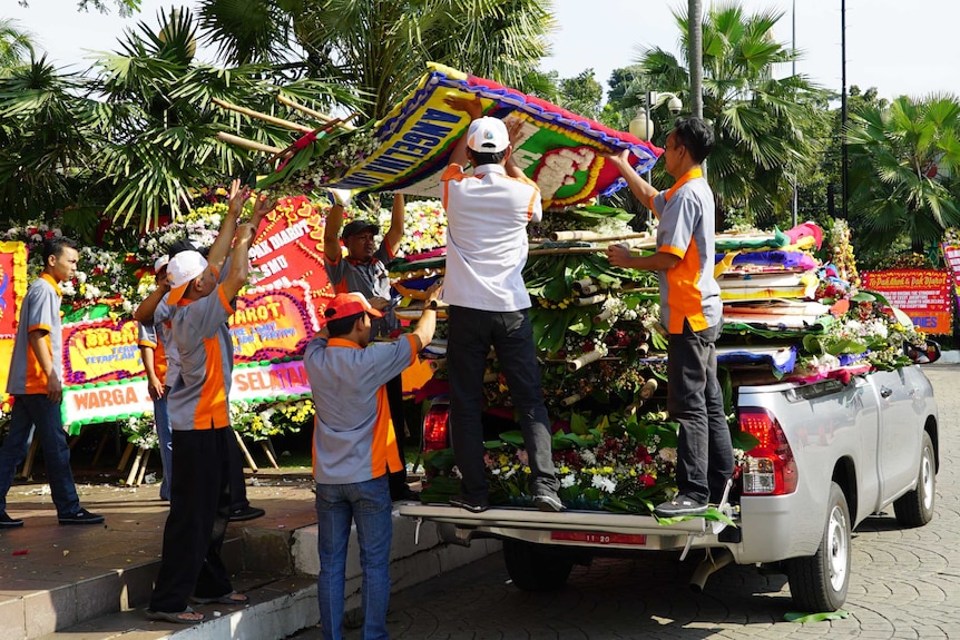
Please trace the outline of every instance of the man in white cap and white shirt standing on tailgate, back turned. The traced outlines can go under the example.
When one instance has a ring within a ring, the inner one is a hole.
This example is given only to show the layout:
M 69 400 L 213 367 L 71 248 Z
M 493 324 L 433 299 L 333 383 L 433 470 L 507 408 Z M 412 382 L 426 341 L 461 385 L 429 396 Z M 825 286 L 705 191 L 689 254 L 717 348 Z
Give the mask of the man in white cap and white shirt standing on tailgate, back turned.
M 450 425 L 461 473 L 460 495 L 450 503 L 474 513 L 489 505 L 480 413 L 492 346 L 523 433 L 533 503 L 543 511 L 560 511 L 550 422 L 527 314 L 530 295 L 522 275 L 527 224 L 543 215 L 540 190 L 513 163 L 502 120 L 481 117 L 479 100 L 452 98 L 448 104 L 472 119 L 440 179 L 448 218 L 443 302 L 450 305 Z M 472 174 L 463 171 L 468 159 Z

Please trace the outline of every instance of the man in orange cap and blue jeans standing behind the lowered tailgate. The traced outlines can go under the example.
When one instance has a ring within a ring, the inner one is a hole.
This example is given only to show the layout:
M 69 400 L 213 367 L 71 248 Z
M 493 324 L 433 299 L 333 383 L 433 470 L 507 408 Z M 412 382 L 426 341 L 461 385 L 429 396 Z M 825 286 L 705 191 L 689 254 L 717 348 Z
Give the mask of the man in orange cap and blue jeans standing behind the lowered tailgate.
M 356 523 L 363 568 L 362 637 L 389 638 L 393 522 L 386 471 L 395 471 L 402 461 L 389 426 L 384 385 L 413 364 L 418 352 L 433 339 L 439 291 L 439 284 L 427 289 L 427 307 L 411 333 L 375 344 L 370 344 L 370 326 L 383 314 L 359 293 L 337 294 L 324 312 L 323 329 L 304 353 L 316 411 L 313 475 L 324 640 L 342 638 L 351 521 Z

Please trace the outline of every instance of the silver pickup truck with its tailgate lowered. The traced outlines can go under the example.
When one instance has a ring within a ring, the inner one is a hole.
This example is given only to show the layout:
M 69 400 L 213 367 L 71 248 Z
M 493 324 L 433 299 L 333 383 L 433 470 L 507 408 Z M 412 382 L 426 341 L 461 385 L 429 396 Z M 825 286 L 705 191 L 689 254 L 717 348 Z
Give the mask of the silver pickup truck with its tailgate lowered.
M 760 440 L 722 505 L 736 526 L 701 518 L 660 525 L 654 516 L 601 511 L 474 514 L 435 504 L 405 504 L 400 513 L 435 522 L 448 542 L 502 540 L 507 570 L 523 590 L 559 588 L 575 563 L 594 557 L 705 549 L 695 590 L 729 562 L 773 565 L 788 577 L 799 609 L 839 609 L 851 531 L 861 521 L 890 504 L 903 526 L 933 516 L 939 423 L 930 382 L 914 365 L 846 384 L 742 385 L 735 393 L 741 429 Z

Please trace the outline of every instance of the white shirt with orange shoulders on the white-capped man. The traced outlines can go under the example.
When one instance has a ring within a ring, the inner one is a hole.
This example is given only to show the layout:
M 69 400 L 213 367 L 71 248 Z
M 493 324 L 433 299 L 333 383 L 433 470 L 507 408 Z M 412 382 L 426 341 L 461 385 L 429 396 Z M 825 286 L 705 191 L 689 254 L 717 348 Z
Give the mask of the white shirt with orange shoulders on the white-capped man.
M 440 183 L 447 209 L 443 302 L 490 312 L 529 308 L 527 224 L 543 217 L 540 189 L 500 165 L 481 165 L 470 175 L 451 164 Z

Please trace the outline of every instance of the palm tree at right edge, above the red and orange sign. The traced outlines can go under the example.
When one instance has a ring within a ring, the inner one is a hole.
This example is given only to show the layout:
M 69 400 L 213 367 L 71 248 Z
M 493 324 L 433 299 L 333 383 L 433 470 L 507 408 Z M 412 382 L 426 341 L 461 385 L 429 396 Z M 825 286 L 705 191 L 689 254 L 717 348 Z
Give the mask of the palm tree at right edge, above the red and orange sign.
M 915 253 L 960 226 L 960 102 L 947 93 L 851 115 L 849 207 L 860 242 L 880 250 L 898 239 Z

